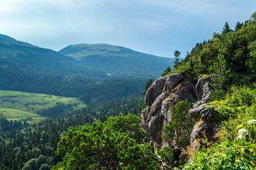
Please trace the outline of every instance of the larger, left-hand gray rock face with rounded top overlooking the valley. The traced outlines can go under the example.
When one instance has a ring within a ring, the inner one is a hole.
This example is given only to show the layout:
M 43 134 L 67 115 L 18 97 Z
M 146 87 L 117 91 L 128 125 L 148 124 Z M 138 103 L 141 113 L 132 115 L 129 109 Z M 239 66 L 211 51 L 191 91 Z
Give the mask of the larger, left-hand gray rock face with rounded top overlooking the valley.
M 145 95 L 147 108 L 141 113 L 143 120 L 140 126 L 152 137 L 155 149 L 165 145 L 162 139 L 163 128 L 172 118 L 172 105 L 185 99 L 191 101 L 196 98 L 193 93 L 194 86 L 187 78 L 186 74 L 177 73 L 157 79 Z

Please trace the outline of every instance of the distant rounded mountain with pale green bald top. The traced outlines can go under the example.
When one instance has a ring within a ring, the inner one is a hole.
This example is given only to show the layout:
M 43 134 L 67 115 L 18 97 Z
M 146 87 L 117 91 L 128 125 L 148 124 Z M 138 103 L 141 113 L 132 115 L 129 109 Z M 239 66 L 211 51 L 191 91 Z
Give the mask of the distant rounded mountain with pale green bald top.
M 69 45 L 59 53 L 111 74 L 122 74 L 123 72 L 148 74 L 156 70 L 163 70 L 168 66 L 172 68 L 174 61 L 172 58 L 149 55 L 127 47 L 105 43 Z M 152 70 L 152 68 L 154 69 Z

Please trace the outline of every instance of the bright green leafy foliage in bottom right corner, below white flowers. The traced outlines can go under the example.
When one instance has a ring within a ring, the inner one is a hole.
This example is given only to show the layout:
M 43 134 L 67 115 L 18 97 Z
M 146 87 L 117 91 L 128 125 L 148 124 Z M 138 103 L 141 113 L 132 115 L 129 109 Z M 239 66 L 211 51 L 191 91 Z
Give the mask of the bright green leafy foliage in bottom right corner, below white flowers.
M 221 141 L 199 149 L 184 169 L 255 169 L 256 145 L 243 140 Z

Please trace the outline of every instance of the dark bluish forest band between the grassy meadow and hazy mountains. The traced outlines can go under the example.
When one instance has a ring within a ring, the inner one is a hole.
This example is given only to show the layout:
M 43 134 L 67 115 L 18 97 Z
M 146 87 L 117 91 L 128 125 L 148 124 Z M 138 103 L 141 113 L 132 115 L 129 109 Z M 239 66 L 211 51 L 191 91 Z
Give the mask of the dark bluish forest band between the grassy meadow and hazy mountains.
M 92 79 L 68 77 L 60 74 L 42 74 L 18 67 L 0 67 L 1 90 L 26 91 L 80 98 L 86 104 L 95 104 L 113 98 L 138 94 L 146 79 Z

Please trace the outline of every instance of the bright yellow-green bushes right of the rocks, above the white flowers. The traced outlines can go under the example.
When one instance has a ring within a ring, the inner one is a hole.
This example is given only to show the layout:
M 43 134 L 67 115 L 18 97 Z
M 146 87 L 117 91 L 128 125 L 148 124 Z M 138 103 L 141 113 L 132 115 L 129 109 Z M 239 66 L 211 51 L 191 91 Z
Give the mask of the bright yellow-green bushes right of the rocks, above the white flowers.
M 232 86 L 225 100 L 218 101 L 217 119 L 222 120 L 218 136 L 221 140 L 235 140 L 238 127 L 247 130 L 251 128 L 247 121 L 256 118 L 255 86 Z

